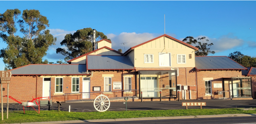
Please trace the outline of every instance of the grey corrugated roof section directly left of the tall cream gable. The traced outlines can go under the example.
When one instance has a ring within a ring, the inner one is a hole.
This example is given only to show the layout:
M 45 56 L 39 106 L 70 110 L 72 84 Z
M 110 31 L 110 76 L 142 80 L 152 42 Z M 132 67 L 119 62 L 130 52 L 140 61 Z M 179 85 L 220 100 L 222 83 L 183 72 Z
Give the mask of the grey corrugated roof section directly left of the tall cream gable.
M 88 70 L 93 69 L 134 69 L 128 56 L 88 55 Z

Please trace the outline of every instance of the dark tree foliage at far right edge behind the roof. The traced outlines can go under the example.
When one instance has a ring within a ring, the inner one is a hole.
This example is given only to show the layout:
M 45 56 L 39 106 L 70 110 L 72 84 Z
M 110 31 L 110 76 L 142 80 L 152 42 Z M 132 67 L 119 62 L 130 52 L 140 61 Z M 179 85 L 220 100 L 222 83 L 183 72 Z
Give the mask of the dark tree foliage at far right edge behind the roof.
M 245 67 L 256 67 L 256 58 L 255 57 L 250 57 L 247 55 L 243 55 L 241 52 L 236 51 L 233 53 L 230 53 L 228 56 L 230 59 L 233 59 L 237 63 L 240 63 L 242 66 Z

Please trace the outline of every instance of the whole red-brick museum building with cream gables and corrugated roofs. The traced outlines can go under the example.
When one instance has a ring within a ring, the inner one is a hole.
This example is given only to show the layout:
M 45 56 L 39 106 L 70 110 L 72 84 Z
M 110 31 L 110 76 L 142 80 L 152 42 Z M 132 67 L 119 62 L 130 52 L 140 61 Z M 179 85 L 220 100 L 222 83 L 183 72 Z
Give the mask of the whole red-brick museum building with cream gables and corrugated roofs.
M 255 98 L 255 68 L 243 67 L 226 56 L 197 57 L 197 48 L 168 35 L 124 53 L 113 50 L 111 43 L 103 39 L 97 50 L 69 64 L 30 64 L 10 70 L 10 96 L 67 101 L 104 94 L 154 101 L 161 91 L 162 100 L 177 100 L 178 92 L 181 99 Z M 248 70 L 253 74 L 245 73 Z

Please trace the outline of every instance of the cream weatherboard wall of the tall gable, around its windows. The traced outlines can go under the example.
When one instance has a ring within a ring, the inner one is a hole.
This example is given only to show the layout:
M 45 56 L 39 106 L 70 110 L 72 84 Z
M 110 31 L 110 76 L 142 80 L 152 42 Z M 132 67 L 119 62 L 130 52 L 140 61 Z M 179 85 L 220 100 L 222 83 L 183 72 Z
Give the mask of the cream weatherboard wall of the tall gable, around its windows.
M 159 53 L 170 53 L 171 66 L 159 66 Z M 154 63 L 144 63 L 144 54 L 153 54 Z M 177 54 L 186 55 L 186 63 L 178 64 Z M 189 58 L 189 54 L 192 58 Z M 195 49 L 164 36 L 134 48 L 127 54 L 135 67 L 195 67 Z

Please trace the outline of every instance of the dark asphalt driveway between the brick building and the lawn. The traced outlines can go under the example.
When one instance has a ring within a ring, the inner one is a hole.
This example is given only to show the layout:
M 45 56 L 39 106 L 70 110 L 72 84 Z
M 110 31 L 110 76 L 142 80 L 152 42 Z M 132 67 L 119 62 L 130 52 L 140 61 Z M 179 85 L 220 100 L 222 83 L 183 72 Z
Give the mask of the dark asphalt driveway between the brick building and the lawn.
M 256 99 L 253 100 L 180 100 L 180 101 L 143 101 L 143 102 L 127 102 L 127 111 L 133 110 L 174 110 L 186 109 L 181 105 L 182 102 L 206 102 L 203 109 L 222 109 L 222 108 L 256 108 Z M 61 111 L 68 111 L 70 105 L 71 112 L 95 112 L 93 102 L 68 102 L 61 103 Z M 200 106 L 188 106 L 188 109 L 200 109 Z M 41 106 L 41 110 L 48 110 L 48 106 Z M 50 106 L 50 110 L 57 110 L 57 103 Z M 124 102 L 111 102 L 108 111 L 125 111 Z

